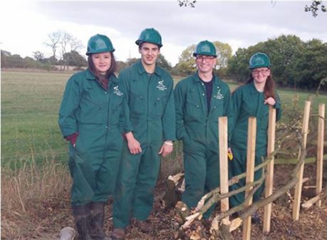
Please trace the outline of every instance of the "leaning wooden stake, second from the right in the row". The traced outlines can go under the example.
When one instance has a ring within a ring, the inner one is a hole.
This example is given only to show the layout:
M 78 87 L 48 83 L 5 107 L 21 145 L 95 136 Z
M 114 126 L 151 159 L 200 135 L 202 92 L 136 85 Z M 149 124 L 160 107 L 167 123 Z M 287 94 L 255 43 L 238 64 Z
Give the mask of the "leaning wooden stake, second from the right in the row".
M 306 147 L 306 138 L 308 136 L 308 120 L 310 115 L 310 106 L 311 102 L 306 101 L 304 105 L 304 112 L 303 112 L 303 122 L 302 122 L 302 136 L 303 136 L 303 145 Z M 299 157 L 301 154 L 301 149 L 299 150 Z M 300 204 L 301 204 L 301 194 L 302 194 L 302 180 L 303 180 L 303 169 L 304 169 L 304 162 L 302 163 L 300 170 L 297 174 L 299 182 L 295 186 L 295 193 L 294 193 L 294 205 L 293 205 L 293 220 L 299 220 L 300 214 Z

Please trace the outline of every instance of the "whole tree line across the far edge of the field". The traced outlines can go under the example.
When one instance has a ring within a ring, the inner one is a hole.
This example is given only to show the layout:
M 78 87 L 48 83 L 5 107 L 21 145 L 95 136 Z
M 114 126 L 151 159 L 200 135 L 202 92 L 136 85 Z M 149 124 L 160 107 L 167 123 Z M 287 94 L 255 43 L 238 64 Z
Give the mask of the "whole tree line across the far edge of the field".
M 75 38 L 70 39 L 76 42 Z M 302 41 L 295 35 L 281 35 L 248 48 L 239 48 L 234 54 L 228 43 L 214 41 L 214 45 L 217 48 L 217 66 L 214 71 L 221 78 L 244 82 L 250 73 L 248 66 L 250 56 L 260 51 L 271 58 L 271 71 L 277 85 L 305 90 L 317 88 L 327 90 L 324 84 L 327 82 L 327 43 L 321 40 Z M 48 46 L 55 49 L 53 45 L 48 44 Z M 190 75 L 196 71 L 192 56 L 194 48 L 195 44 L 187 46 L 174 67 L 162 54 L 158 59 L 158 64 L 170 71 L 172 75 Z M 58 45 L 56 49 L 58 51 Z M 53 50 L 53 56 L 49 58 L 45 58 L 40 51 L 33 52 L 33 58 L 21 58 L 17 54 L 11 55 L 8 51 L 1 50 L 1 68 L 42 68 L 53 71 L 65 70 L 66 66 L 75 66 L 76 70 L 88 66 L 85 57 L 78 53 L 78 48 L 71 48 L 70 51 L 63 51 L 61 48 L 60 58 L 57 57 L 56 51 Z M 128 58 L 125 62 L 118 61 L 118 72 L 135 61 L 137 58 Z

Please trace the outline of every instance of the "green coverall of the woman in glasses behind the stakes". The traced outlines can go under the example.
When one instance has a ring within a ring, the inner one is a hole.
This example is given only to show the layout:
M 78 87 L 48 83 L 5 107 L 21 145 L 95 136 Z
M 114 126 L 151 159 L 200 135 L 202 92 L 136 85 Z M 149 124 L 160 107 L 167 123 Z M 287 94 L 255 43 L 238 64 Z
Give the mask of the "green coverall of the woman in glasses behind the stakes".
M 276 120 L 281 118 L 281 103 L 278 95 L 276 104 Z M 246 148 L 249 117 L 256 117 L 256 154 L 255 166 L 262 162 L 262 157 L 267 155 L 267 130 L 269 120 L 269 105 L 264 104 L 264 93 L 256 90 L 254 83 L 243 85 L 232 93 L 232 117 L 233 133 L 230 147 L 233 152 L 233 160 L 229 161 L 229 178 L 246 172 Z M 260 179 L 262 169 L 254 172 L 254 180 Z M 245 185 L 245 179 L 233 184 L 230 189 L 235 190 Z M 256 202 L 264 190 L 264 184 L 254 193 L 253 200 Z M 244 202 L 244 192 L 229 198 L 231 207 L 236 207 Z

